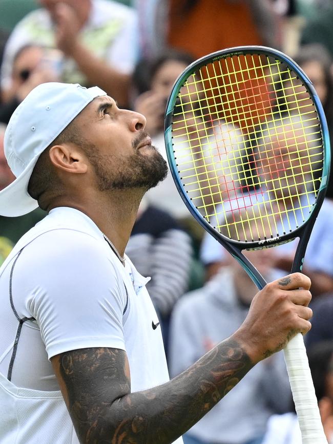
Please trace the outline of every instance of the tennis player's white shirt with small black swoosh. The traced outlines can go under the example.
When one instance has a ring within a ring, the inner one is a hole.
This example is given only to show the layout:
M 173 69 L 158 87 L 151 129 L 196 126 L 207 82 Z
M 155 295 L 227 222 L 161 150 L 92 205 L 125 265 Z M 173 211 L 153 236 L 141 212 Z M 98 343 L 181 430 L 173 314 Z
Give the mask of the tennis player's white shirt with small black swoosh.
M 78 442 L 49 362 L 58 353 L 126 350 L 132 392 L 169 380 L 148 281 L 128 257 L 124 267 L 95 223 L 73 208 L 53 209 L 19 240 L 0 268 L 2 444 Z

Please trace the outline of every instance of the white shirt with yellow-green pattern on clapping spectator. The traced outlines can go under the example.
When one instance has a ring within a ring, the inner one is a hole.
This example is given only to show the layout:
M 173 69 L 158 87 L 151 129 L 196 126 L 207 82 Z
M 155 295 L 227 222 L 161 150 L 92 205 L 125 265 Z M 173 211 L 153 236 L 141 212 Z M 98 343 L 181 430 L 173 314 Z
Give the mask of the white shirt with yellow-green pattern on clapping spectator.
M 138 55 L 137 14 L 134 9 L 112 0 L 92 0 L 88 22 L 80 31 L 80 39 L 95 56 L 124 74 L 130 74 Z M 1 87 L 10 87 L 13 60 L 26 45 L 55 47 L 54 26 L 46 9 L 26 15 L 15 26 L 7 41 L 1 73 Z M 87 86 L 86 77 L 74 60 L 64 59 L 61 81 Z

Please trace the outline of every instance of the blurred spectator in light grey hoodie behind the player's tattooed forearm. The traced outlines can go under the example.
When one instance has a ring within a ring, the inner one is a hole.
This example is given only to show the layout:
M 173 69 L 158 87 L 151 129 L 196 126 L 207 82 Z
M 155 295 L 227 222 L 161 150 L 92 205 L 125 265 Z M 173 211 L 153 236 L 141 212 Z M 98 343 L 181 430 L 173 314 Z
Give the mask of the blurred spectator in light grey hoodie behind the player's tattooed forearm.
M 272 250 L 245 253 L 268 280 Z M 236 261 L 228 263 L 203 288 L 184 295 L 174 309 L 169 345 L 172 376 L 229 336 L 245 319 L 257 289 Z M 274 412 L 287 411 L 289 396 L 283 355 L 272 356 L 190 429 L 183 436 L 184 444 L 259 444 L 267 419 Z

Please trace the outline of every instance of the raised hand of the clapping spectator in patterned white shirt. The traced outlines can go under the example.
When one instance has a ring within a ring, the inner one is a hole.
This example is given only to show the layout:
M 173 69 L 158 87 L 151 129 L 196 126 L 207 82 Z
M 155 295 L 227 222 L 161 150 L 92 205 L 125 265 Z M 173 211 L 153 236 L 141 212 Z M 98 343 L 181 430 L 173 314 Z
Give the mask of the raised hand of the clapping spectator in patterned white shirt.
M 67 56 L 71 56 L 77 44 L 77 36 L 81 27 L 75 11 L 66 3 L 58 3 L 54 19 L 56 47 Z

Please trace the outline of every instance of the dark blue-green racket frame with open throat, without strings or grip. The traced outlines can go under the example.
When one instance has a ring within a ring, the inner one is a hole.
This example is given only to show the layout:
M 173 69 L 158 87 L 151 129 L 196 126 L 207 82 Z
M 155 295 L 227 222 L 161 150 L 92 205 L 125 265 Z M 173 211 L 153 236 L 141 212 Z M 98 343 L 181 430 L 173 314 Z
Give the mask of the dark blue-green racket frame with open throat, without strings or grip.
M 172 143 L 172 118 L 173 118 L 173 110 L 180 89 L 184 86 L 186 80 L 188 80 L 188 78 L 193 73 L 199 70 L 202 66 L 211 64 L 214 61 L 231 56 L 240 56 L 246 54 L 253 54 L 253 55 L 263 54 L 266 56 L 276 58 L 277 60 L 284 62 L 290 69 L 294 70 L 294 72 L 302 81 L 311 99 L 313 99 L 314 105 L 318 113 L 320 129 L 323 135 L 323 171 L 316 202 L 313 205 L 311 211 L 309 212 L 307 219 L 302 223 L 302 225 L 300 225 L 298 228 L 294 229 L 289 233 L 280 235 L 277 238 L 272 237 L 258 241 L 243 242 L 230 239 L 224 236 L 222 233 L 218 232 L 214 228 L 214 226 L 211 225 L 209 220 L 207 220 L 204 216 L 202 216 L 198 212 L 193 202 L 188 197 L 186 197 L 186 191 L 184 189 L 184 185 L 181 182 L 181 178 L 178 175 L 179 171 L 177 168 L 177 161 L 175 159 L 175 156 L 173 155 L 174 150 Z M 317 92 L 313 84 L 311 83 L 310 79 L 307 77 L 304 71 L 296 64 L 296 62 L 292 58 L 288 57 L 287 55 L 278 50 L 263 46 L 242 46 L 236 48 L 227 48 L 225 50 L 217 51 L 212 54 L 201 57 L 198 60 L 194 61 L 191 65 L 189 65 L 188 68 L 186 68 L 175 81 L 172 93 L 169 96 L 168 102 L 166 104 L 164 121 L 165 121 L 164 138 L 166 145 L 166 155 L 168 156 L 171 174 L 173 176 L 174 182 L 176 184 L 176 187 L 179 191 L 179 194 L 183 202 L 188 207 L 188 209 L 190 210 L 193 217 L 197 220 L 197 222 L 199 222 L 199 224 L 206 231 L 208 231 L 217 241 L 222 243 L 225 249 L 228 250 L 238 262 L 240 262 L 240 264 L 246 269 L 247 273 L 249 274 L 249 276 L 259 289 L 262 289 L 266 285 L 266 281 L 261 276 L 259 271 L 252 265 L 252 263 L 249 262 L 247 258 L 243 255 L 242 250 L 257 250 L 263 248 L 270 248 L 276 245 L 281 245 L 283 243 L 293 241 L 296 238 L 300 238 L 300 242 L 298 243 L 295 252 L 293 266 L 290 272 L 292 273 L 296 271 L 301 272 L 303 268 L 306 246 L 311 231 L 313 229 L 313 226 L 316 222 L 319 209 L 323 203 L 326 194 L 326 187 L 330 171 L 330 141 L 329 141 L 329 132 L 328 132 L 326 117 L 320 99 L 317 95 Z

